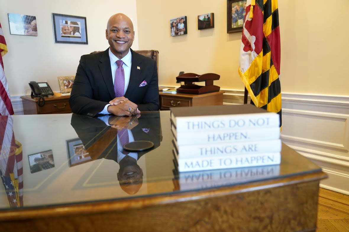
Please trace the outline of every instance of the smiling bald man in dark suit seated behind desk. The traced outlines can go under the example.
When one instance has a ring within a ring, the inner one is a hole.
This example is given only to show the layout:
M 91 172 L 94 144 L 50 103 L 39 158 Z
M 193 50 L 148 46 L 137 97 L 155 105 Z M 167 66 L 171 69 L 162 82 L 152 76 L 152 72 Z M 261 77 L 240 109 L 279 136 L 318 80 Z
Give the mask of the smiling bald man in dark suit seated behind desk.
M 124 14 L 111 16 L 105 31 L 110 47 L 100 53 L 81 56 L 69 98 L 73 113 L 131 116 L 159 109 L 156 62 L 135 53 L 133 24 Z M 122 61 L 121 65 L 116 62 Z M 122 68 L 124 94 L 116 96 L 117 69 Z

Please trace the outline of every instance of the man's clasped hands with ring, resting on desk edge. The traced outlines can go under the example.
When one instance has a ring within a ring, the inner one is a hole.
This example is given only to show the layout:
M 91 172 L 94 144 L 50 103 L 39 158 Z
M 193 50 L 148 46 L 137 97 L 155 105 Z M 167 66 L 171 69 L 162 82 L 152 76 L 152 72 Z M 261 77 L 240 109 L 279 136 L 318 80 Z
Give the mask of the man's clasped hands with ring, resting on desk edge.
M 132 116 L 141 113 L 138 106 L 126 97 L 116 97 L 109 104 L 108 112 L 117 116 Z

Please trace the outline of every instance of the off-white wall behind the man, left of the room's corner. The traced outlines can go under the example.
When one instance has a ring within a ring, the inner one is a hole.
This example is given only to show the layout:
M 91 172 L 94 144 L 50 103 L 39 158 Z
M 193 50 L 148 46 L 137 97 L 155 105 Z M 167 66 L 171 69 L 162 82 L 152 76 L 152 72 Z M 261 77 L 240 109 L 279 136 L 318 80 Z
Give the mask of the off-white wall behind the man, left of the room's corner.
M 0 23 L 8 48 L 3 62 L 11 96 L 23 95 L 31 80 L 48 81 L 59 91 L 57 77 L 75 75 L 81 55 L 109 47 L 106 23 L 118 12 L 132 18 L 137 30 L 135 0 L 0 0 Z M 36 16 L 38 36 L 11 35 L 8 13 Z M 88 45 L 54 43 L 51 13 L 86 17 Z M 132 47 L 138 48 L 138 35 Z

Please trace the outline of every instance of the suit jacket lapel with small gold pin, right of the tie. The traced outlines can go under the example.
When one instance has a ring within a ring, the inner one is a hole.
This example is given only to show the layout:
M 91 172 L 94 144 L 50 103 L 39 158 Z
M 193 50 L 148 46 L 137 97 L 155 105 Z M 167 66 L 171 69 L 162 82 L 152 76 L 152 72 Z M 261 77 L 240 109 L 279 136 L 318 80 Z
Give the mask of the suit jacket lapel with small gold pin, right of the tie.
M 128 87 L 125 93 L 125 96 L 129 94 L 135 94 L 137 88 L 142 82 L 140 74 L 142 72 L 142 60 L 140 59 L 140 55 L 135 53 L 132 49 L 132 65 L 131 65 L 131 73 L 130 73 L 130 81 L 128 83 Z

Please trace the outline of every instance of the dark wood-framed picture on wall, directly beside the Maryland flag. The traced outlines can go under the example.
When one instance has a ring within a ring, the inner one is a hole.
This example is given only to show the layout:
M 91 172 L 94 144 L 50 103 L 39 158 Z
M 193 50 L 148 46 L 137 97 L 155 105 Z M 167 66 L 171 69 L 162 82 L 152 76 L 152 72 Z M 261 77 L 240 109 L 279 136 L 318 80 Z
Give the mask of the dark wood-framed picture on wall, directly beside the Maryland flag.
M 227 33 L 242 31 L 247 0 L 227 0 Z

